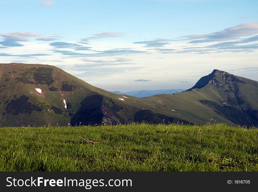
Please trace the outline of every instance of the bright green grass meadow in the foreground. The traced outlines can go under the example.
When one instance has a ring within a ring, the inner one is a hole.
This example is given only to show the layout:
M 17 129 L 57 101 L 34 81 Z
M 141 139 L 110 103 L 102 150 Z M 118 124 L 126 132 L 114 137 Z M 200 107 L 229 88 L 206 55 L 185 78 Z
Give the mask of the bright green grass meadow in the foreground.
M 209 123 L 0 128 L 0 171 L 258 171 L 257 141 Z

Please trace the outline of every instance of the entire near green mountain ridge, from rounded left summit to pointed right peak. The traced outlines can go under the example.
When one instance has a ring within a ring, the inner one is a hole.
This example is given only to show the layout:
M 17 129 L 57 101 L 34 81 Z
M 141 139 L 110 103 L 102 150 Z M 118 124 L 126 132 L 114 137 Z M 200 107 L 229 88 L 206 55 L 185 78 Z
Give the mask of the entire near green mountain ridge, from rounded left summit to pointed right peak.
M 211 119 L 258 126 L 258 82 L 215 69 L 186 91 L 138 98 L 99 89 L 50 65 L 0 64 L 0 127 Z

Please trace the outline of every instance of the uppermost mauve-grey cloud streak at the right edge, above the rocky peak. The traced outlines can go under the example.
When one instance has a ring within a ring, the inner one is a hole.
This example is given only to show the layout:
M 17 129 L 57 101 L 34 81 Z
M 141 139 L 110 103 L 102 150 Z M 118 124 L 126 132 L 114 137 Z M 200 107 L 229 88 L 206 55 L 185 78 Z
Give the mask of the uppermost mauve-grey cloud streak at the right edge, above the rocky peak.
M 247 37 L 258 33 L 258 22 L 241 23 L 238 26 L 226 28 L 215 33 L 202 35 L 187 35 L 183 38 L 192 39 L 189 43 L 204 43 L 213 41 L 234 40 L 240 37 Z

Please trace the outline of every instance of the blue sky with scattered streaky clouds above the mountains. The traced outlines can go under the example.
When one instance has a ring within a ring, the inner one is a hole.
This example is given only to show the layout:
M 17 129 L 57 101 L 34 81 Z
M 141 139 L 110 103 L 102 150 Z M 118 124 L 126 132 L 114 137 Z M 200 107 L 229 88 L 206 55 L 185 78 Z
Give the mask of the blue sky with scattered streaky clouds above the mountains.
M 258 81 L 256 0 L 0 0 L 0 63 L 49 64 L 107 91 Z

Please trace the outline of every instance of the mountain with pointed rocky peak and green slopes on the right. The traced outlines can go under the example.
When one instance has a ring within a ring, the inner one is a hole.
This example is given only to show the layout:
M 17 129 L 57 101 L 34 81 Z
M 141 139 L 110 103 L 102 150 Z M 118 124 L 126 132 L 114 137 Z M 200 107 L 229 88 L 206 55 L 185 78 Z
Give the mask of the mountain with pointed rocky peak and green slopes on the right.
M 192 123 L 213 119 L 217 123 L 258 126 L 258 82 L 216 69 L 191 89 L 146 100 L 172 108 L 171 116 Z

